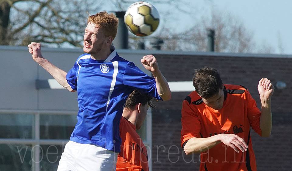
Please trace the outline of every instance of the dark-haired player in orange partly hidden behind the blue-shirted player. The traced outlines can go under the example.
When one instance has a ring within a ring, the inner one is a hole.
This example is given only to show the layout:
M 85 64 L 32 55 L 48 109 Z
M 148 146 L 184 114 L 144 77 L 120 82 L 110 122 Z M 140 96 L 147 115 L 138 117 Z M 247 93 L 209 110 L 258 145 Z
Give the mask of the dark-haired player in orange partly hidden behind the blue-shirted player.
M 148 171 L 148 154 L 142 139 L 136 132 L 140 129 L 151 103 L 152 97 L 135 89 L 128 97 L 120 121 L 122 140 L 118 155 L 117 171 Z

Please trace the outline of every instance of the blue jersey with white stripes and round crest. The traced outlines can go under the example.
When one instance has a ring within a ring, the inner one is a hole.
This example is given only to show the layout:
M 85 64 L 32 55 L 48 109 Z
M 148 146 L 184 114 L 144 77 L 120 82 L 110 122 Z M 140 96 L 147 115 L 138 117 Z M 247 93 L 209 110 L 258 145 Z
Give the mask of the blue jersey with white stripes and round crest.
M 119 152 L 119 124 L 128 95 L 139 89 L 156 99 L 161 97 L 154 78 L 121 58 L 113 46 L 112 50 L 105 61 L 94 60 L 90 54 L 79 56 L 67 73 L 68 84 L 78 92 L 79 107 L 70 140 Z

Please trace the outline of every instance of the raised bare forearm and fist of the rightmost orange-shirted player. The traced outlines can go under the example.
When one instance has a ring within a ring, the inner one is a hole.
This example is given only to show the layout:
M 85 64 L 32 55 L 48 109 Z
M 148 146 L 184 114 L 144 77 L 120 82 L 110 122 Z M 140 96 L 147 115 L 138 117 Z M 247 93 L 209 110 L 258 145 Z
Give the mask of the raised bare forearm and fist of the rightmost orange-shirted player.
M 271 97 L 274 92 L 274 86 L 267 78 L 259 81 L 258 90 L 262 103 L 262 114 L 259 120 L 259 126 L 262 130 L 262 137 L 269 137 L 272 131 L 272 110 Z

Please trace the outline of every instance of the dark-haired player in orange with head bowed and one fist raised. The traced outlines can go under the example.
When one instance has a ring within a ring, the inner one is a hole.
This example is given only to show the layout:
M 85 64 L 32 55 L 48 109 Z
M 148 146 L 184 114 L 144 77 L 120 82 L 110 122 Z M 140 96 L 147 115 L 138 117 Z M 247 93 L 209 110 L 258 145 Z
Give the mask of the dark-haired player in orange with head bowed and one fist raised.
M 256 170 L 250 129 L 262 137 L 271 134 L 271 81 L 258 84 L 262 110 L 245 87 L 223 84 L 214 68 L 196 69 L 193 85 L 196 91 L 182 104 L 185 153 L 201 153 L 200 171 Z

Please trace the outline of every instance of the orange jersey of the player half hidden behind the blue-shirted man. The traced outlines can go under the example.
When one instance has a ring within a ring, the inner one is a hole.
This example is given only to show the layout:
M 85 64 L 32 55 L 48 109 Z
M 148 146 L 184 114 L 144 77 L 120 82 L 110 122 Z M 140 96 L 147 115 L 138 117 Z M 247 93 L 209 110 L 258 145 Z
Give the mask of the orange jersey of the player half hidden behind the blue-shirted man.
M 120 120 L 120 137 L 122 144 L 116 163 L 116 170 L 148 171 L 147 149 L 136 132 L 136 127 L 124 117 Z M 124 160 L 119 157 L 122 157 Z M 140 166 L 141 168 L 137 166 Z

